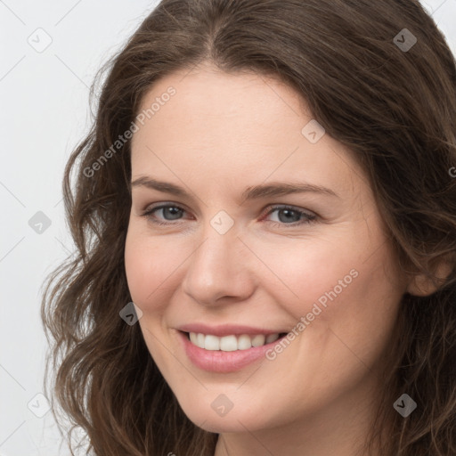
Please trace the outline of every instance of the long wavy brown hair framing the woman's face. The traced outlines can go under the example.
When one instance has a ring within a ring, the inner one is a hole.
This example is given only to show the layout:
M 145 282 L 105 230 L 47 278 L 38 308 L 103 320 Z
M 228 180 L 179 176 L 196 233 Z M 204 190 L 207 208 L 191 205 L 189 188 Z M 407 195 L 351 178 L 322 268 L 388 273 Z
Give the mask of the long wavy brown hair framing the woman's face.
M 417 38 L 411 49 L 399 45 L 403 28 Z M 279 77 L 354 152 L 403 269 L 438 287 L 403 296 L 395 367 L 369 442 L 381 442 L 389 421 L 394 430 L 382 454 L 454 456 L 456 65 L 417 0 L 164 0 L 142 22 L 95 79 L 91 99 L 108 73 L 94 125 L 65 170 L 77 253 L 48 278 L 42 305 L 53 344 L 46 375 L 51 360 L 57 370 L 52 391 L 45 385 L 54 416 L 60 420 L 59 405 L 72 425 L 68 438 L 81 427 L 98 455 L 214 453 L 217 435 L 185 416 L 139 325 L 118 315 L 131 301 L 124 265 L 130 142 L 87 171 L 130 128 L 154 82 L 206 61 Z M 443 258 L 451 272 L 439 281 Z M 418 403 L 407 418 L 393 408 L 403 393 Z

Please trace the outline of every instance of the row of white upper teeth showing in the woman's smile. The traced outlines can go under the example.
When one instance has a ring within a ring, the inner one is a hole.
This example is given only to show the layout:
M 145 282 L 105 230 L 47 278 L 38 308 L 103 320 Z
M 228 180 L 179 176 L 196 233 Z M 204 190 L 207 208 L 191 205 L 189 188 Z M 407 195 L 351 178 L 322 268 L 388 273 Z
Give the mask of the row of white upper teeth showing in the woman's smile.
M 255 336 L 248 336 L 248 334 L 242 334 L 241 336 L 224 336 L 218 338 L 212 334 L 201 334 L 191 332 L 190 340 L 194 346 L 204 348 L 209 351 L 222 350 L 223 352 L 233 352 L 235 350 L 248 350 L 252 346 L 264 346 L 265 344 L 271 344 L 279 338 L 279 334 L 256 334 Z

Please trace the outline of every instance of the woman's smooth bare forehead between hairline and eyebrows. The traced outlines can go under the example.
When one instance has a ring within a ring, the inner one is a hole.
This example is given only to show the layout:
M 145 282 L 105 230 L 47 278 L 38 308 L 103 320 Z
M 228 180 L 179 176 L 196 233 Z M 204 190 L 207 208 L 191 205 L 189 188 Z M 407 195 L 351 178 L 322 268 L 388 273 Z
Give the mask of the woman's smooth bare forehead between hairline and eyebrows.
M 182 70 L 151 88 L 141 113 L 133 175 L 308 180 L 335 191 L 361 184 L 362 171 L 342 144 L 328 134 L 312 143 L 303 134 L 312 114 L 293 89 L 272 77 Z

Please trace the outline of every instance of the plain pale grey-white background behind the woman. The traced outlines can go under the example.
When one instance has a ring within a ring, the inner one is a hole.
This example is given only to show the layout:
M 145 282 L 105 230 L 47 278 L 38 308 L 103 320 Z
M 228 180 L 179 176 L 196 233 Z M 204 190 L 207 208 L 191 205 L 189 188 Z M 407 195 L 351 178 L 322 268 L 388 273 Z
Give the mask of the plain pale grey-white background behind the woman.
M 157 3 L 0 0 L 0 456 L 69 454 L 52 413 L 37 416 L 46 410 L 41 287 L 72 249 L 63 167 L 88 131 L 96 70 Z M 422 3 L 456 53 L 456 0 Z

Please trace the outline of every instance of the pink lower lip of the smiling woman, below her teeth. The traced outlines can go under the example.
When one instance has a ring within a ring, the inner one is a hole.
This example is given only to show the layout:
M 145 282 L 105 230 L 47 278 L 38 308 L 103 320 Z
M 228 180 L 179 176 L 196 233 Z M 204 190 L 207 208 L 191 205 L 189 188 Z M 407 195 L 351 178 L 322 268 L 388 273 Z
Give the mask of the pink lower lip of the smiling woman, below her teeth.
M 178 331 L 178 333 L 179 338 L 183 342 L 183 349 L 191 362 L 203 371 L 218 373 L 240 371 L 242 368 L 248 366 L 248 364 L 265 358 L 267 350 L 281 340 L 279 338 L 270 344 L 252 346 L 252 348 L 248 348 L 247 350 L 224 352 L 222 350 L 205 350 L 204 348 L 199 348 L 199 346 L 194 346 L 186 333 L 183 331 Z

